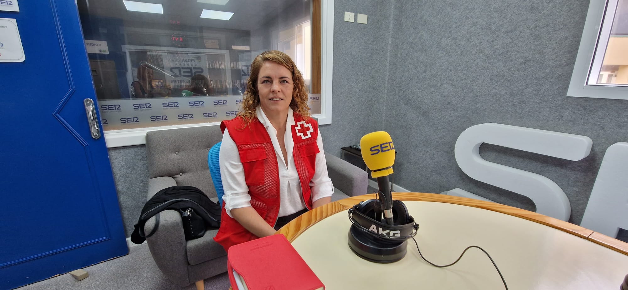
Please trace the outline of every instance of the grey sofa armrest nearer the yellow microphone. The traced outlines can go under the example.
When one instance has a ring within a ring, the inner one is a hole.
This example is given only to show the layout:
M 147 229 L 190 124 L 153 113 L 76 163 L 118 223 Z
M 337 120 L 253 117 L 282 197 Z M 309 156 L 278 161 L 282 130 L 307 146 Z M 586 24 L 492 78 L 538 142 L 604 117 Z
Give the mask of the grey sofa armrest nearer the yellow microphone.
M 365 195 L 369 188 L 369 175 L 366 171 L 338 156 L 325 152 L 327 172 L 333 186 L 348 196 Z

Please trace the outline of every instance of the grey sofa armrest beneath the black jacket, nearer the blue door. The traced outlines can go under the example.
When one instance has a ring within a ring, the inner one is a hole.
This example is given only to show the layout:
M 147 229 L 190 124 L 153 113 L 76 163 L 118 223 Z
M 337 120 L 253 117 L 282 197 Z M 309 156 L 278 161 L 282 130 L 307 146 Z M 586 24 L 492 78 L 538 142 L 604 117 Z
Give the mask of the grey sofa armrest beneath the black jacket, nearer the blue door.
M 158 215 L 160 220 L 157 230 L 146 238 L 148 248 L 163 274 L 179 286 L 188 286 L 195 281 L 189 281 L 188 278 L 189 263 L 181 214 L 175 210 L 164 210 Z M 155 217 L 151 217 L 144 225 L 144 232 L 151 232 L 154 226 Z

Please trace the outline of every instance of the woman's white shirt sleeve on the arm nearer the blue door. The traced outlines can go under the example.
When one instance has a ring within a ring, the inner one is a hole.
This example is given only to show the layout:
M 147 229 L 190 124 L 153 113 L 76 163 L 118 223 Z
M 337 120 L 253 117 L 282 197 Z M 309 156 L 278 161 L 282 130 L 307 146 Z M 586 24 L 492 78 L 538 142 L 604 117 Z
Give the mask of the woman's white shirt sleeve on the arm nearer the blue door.
M 251 195 L 249 195 L 249 186 L 246 186 L 246 180 L 244 179 L 244 168 L 240 161 L 236 142 L 231 139 L 227 129 L 225 129 L 222 135 L 219 160 L 222 189 L 225 191 L 222 200 L 225 204 L 227 215 L 233 217 L 231 215 L 232 209 L 251 207 Z M 327 173 L 327 168 L 325 168 L 325 173 Z

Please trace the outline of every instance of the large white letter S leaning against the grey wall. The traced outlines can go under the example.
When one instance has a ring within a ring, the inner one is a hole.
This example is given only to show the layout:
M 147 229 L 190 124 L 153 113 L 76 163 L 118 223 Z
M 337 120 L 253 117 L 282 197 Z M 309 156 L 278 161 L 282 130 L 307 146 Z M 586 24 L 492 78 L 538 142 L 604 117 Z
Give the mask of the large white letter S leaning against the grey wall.
M 470 178 L 528 196 L 536 212 L 568 220 L 570 203 L 565 192 L 545 176 L 484 160 L 482 143 L 578 161 L 588 156 L 593 141 L 587 136 L 503 124 L 479 124 L 466 129 L 456 141 L 455 158 Z M 472 193 L 458 190 L 471 197 Z M 450 195 L 456 195 L 450 191 Z M 587 208 L 588 210 L 588 208 Z

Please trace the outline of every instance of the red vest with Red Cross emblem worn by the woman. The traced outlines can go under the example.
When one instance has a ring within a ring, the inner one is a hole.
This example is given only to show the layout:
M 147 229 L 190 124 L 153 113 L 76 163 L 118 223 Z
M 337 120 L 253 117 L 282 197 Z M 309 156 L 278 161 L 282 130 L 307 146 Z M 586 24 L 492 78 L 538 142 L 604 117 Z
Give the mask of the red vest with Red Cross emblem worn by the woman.
M 315 119 L 304 121 L 294 114 L 292 139 L 295 142 L 293 159 L 301 183 L 303 200 L 308 210 L 312 208 L 310 181 L 314 176 L 316 154 L 320 152 L 317 144 L 318 124 Z M 271 138 L 264 125 L 256 118 L 248 126 L 242 117 L 222 121 L 222 132 L 229 129 L 229 136 L 236 143 L 244 168 L 244 179 L 249 187 L 251 206 L 271 226 L 274 227 L 279 214 L 279 166 Z M 220 228 L 214 237 L 225 250 L 232 245 L 257 239 L 255 235 L 242 227 L 237 220 L 227 215 L 224 204 L 220 215 Z

